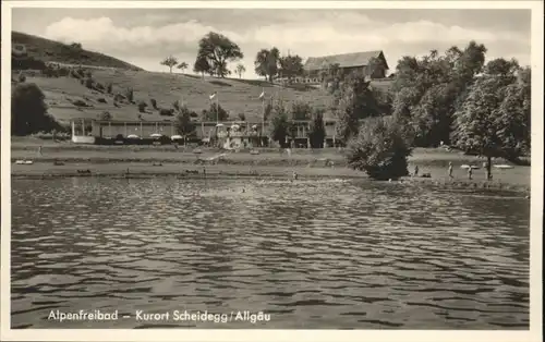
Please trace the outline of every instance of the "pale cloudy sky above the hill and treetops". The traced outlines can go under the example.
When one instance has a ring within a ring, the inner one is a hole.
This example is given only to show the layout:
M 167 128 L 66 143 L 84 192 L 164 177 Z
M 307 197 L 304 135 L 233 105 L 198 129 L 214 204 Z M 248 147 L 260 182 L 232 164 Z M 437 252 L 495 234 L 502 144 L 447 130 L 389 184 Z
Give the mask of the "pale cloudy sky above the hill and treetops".
M 484 44 L 487 59 L 530 64 L 530 10 L 407 9 L 13 9 L 12 29 L 106 53 L 148 71 L 168 72 L 168 56 L 190 65 L 209 32 L 238 44 L 245 78 L 256 78 L 261 49 L 308 57 L 383 50 L 395 71 L 403 56 L 422 56 L 470 40 Z

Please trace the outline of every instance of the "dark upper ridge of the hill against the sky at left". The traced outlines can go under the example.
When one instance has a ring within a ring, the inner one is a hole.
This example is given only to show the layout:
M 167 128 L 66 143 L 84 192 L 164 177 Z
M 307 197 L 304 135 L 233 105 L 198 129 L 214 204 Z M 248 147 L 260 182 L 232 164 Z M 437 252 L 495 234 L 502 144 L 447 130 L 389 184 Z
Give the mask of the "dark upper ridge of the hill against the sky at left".
M 142 70 L 136 65 L 129 64 L 110 56 L 88 51 L 85 49 L 73 48 L 70 45 L 23 34 L 20 32 L 11 33 L 11 42 L 12 45 L 25 45 L 28 57 L 43 60 L 44 62 L 60 62 L 66 64 L 85 64 L 126 70 Z

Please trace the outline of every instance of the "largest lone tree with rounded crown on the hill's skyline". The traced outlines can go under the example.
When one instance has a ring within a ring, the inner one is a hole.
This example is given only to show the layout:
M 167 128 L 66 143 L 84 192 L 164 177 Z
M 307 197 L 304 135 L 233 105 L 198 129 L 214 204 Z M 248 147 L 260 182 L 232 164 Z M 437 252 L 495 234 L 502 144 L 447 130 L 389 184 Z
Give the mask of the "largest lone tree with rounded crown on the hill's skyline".
M 225 77 L 227 63 L 244 58 L 240 47 L 223 35 L 210 32 L 198 41 L 197 61 L 206 60 L 213 74 Z

